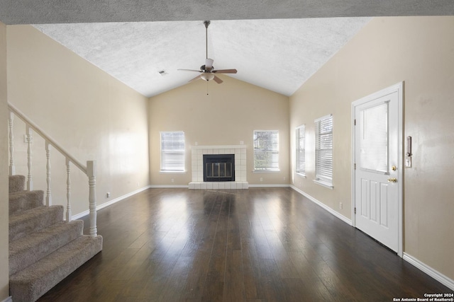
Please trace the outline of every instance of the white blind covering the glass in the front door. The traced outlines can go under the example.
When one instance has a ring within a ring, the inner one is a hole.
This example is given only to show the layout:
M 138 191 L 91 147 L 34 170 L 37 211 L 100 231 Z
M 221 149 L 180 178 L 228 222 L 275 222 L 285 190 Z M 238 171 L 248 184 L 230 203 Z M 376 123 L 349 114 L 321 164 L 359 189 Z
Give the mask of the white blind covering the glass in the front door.
M 388 103 L 360 111 L 360 168 L 388 172 Z

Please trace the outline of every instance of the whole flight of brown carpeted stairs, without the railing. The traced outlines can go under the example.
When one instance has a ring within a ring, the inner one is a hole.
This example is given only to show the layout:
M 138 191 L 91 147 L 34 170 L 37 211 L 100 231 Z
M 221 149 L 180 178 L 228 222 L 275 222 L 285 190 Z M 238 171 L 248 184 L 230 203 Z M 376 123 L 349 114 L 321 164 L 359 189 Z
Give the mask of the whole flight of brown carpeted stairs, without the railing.
M 14 302 L 36 301 L 102 250 L 102 237 L 82 235 L 84 221 L 63 220 L 63 207 L 43 205 L 44 192 L 9 176 L 9 282 Z

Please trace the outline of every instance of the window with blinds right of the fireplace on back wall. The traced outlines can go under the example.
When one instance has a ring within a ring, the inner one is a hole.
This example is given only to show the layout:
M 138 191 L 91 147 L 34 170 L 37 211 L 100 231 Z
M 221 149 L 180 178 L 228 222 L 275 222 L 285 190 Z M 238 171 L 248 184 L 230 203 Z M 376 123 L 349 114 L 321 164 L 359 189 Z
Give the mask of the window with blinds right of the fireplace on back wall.
M 279 132 L 254 130 L 254 170 L 279 171 Z

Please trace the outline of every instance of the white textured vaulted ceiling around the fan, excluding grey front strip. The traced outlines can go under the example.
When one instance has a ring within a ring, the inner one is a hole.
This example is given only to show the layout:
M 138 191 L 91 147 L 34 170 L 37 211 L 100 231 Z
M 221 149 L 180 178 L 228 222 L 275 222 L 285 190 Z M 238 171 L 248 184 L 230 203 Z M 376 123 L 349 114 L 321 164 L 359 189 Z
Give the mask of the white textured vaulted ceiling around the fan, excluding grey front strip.
M 209 57 L 216 69 L 237 69 L 238 74 L 230 75 L 233 78 L 292 95 L 367 20 L 212 21 Z M 199 69 L 205 64 L 202 21 L 35 27 L 147 96 L 182 86 L 198 75 L 177 69 Z M 159 74 L 162 70 L 165 76 Z

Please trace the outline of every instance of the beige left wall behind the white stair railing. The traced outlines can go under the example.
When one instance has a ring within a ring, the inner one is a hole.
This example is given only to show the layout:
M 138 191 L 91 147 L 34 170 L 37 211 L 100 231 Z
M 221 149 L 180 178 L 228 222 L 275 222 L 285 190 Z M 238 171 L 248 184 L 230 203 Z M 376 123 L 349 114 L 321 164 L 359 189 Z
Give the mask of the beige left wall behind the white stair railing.
M 7 38 L 9 102 L 79 161 L 97 161 L 97 203 L 147 187 L 148 98 L 31 25 L 9 25 Z M 24 128 L 15 124 L 16 173 L 26 174 L 26 144 L 18 134 Z M 65 204 L 65 161 L 52 154 L 53 203 Z M 44 190 L 44 142 L 37 136 L 33 158 L 34 188 Z M 75 215 L 88 209 L 88 181 L 72 170 Z

